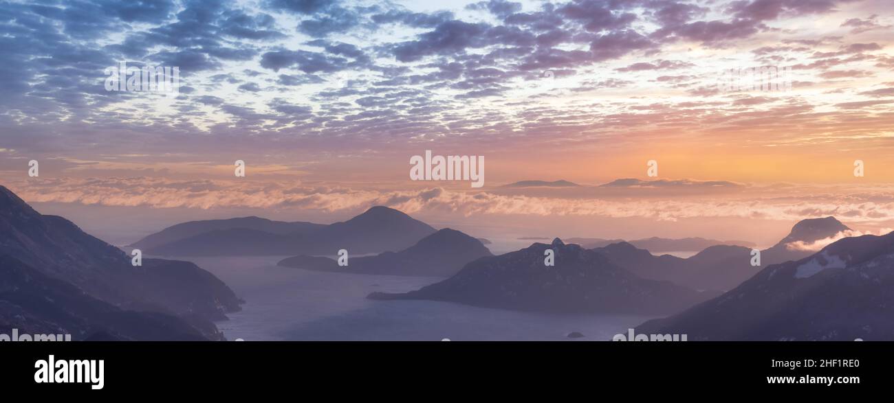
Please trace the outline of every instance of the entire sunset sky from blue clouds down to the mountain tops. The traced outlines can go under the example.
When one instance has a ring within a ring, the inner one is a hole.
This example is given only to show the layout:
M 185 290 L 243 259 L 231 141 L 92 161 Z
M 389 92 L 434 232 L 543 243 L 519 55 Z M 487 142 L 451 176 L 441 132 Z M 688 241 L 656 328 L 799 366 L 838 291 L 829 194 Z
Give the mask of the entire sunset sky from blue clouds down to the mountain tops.
M 113 243 L 377 204 L 509 238 L 882 232 L 892 27 L 886 0 L 0 2 L 0 185 Z M 107 91 L 119 62 L 178 94 Z M 762 67 L 790 87 L 723 86 Z M 410 180 L 426 150 L 485 186 Z

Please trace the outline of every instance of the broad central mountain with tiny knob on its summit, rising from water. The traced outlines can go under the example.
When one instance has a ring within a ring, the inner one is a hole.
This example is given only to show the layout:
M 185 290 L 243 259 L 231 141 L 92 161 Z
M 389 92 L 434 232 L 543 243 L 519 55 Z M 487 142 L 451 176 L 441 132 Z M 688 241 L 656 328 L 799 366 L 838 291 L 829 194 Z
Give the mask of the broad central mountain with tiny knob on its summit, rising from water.
M 555 266 L 544 266 L 552 249 Z M 468 263 L 456 276 L 406 293 L 373 292 L 373 300 L 445 300 L 490 308 L 551 312 L 667 314 L 710 298 L 669 282 L 645 280 L 602 254 L 575 244 L 530 247 Z

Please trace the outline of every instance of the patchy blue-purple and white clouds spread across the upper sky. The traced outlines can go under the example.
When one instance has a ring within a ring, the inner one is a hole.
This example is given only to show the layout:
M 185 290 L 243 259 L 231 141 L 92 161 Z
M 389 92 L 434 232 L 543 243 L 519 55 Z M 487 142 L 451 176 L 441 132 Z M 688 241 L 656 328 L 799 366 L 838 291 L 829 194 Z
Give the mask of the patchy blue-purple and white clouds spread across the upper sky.
M 887 21 L 843 4 L 4 3 L 0 147 L 82 160 L 134 147 L 363 160 L 420 143 L 628 152 L 640 138 L 682 150 L 710 136 L 735 152 L 815 152 L 819 138 L 826 151 L 883 150 L 870 137 L 894 105 L 873 83 L 894 80 L 894 57 L 873 24 Z M 867 30 L 840 35 L 850 29 Z M 106 92 L 103 70 L 122 60 L 179 66 L 181 95 Z M 739 64 L 790 64 L 799 81 L 786 94 L 718 91 L 714 73 Z

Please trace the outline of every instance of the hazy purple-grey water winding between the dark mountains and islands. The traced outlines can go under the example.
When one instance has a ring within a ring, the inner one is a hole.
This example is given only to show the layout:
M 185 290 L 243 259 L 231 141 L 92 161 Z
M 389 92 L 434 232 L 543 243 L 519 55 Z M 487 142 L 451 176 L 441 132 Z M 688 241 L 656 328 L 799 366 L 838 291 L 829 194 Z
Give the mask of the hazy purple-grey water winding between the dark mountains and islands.
M 426 300 L 367 300 L 439 277 L 370 276 L 277 267 L 284 257 L 192 258 L 246 300 L 217 325 L 246 341 L 604 341 L 648 317 L 552 315 Z M 585 337 L 569 339 L 570 332 Z

